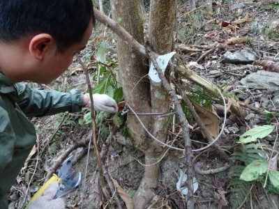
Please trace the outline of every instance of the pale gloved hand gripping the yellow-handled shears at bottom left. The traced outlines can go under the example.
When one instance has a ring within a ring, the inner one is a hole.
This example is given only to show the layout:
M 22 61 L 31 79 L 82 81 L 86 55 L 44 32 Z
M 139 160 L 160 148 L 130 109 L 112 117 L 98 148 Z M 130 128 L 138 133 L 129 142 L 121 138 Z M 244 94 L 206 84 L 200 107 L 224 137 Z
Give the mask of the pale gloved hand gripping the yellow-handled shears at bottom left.
M 45 192 L 38 196 L 28 207 L 28 209 L 65 209 L 66 208 L 66 203 L 65 199 L 62 198 L 57 198 L 53 199 L 57 189 L 59 187 L 59 184 L 57 181 L 54 183 L 51 183 L 47 189 L 45 189 Z

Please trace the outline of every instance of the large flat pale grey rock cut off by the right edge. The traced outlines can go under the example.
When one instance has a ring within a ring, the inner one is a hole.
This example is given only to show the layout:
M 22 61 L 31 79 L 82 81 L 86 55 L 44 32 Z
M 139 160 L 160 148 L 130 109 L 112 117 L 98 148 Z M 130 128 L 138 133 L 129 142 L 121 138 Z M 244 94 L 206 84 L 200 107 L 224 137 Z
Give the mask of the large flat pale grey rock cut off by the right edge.
M 241 79 L 249 88 L 279 90 L 279 73 L 259 70 Z

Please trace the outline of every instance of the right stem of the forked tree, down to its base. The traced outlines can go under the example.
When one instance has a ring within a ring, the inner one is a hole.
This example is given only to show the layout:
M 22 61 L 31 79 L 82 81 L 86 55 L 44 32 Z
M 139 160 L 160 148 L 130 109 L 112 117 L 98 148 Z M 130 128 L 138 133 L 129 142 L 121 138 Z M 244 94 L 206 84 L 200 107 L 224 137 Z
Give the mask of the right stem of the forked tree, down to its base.
M 149 11 L 149 42 L 157 54 L 171 52 L 175 19 L 176 0 L 151 0 Z M 169 94 L 164 86 L 151 84 L 151 110 L 153 113 L 169 111 Z M 152 117 L 151 133 L 160 141 L 166 140 L 165 118 Z M 154 196 L 151 188 L 157 187 L 160 169 L 160 156 L 163 148 L 156 141 L 151 141 L 145 151 L 144 177 L 134 196 L 135 208 L 144 208 Z

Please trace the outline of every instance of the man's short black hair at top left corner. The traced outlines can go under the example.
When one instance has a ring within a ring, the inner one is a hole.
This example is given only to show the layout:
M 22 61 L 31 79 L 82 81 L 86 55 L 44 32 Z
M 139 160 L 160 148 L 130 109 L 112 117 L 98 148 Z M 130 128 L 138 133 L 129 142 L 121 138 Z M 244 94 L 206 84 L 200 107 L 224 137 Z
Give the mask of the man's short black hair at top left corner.
M 0 42 L 48 33 L 62 53 L 82 40 L 91 20 L 91 0 L 0 0 Z

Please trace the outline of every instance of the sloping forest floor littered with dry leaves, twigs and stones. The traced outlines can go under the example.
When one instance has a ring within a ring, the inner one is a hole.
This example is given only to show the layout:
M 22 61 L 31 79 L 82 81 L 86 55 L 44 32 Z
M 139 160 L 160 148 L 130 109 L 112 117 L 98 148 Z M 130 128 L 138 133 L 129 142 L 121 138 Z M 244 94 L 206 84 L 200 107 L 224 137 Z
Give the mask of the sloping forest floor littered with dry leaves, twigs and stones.
M 175 65 L 190 63 L 191 70 L 234 95 L 237 101 L 242 102 L 241 108 L 246 111 L 245 118 L 236 117 L 230 111 L 227 113 L 227 118 L 224 118 L 224 107 L 220 100 L 213 98 L 209 93 L 204 93 L 193 83 L 187 82 L 188 88 L 193 90 L 196 95 L 193 100 L 196 102 L 199 100 L 199 104 L 213 104 L 212 107 L 216 109 L 220 117 L 220 123 L 217 123 L 218 130 L 225 120 L 226 125 L 223 134 L 218 139 L 218 144 L 231 155 L 240 152 L 235 142 L 250 128 L 270 124 L 278 127 L 277 118 L 273 116 L 278 116 L 279 112 L 279 83 L 276 83 L 279 80 L 279 65 L 268 68 L 267 63 L 262 61 L 268 58 L 275 62 L 279 61 L 279 3 L 276 1 L 214 3 L 213 13 L 205 13 L 204 6 L 197 4 L 197 7 L 199 6 L 200 8 L 197 10 L 190 12 L 186 3 L 179 3 L 174 40 L 177 53 L 173 62 Z M 147 16 L 148 14 L 146 14 Z M 147 27 L 146 24 L 144 27 Z M 90 78 L 94 77 L 97 72 L 93 54 L 96 56 L 96 49 L 100 42 L 108 43 L 106 45 L 107 58 L 117 61 L 115 36 L 110 31 L 106 31 L 104 37 L 105 30 L 108 29 L 101 26 L 93 31 L 89 44 L 81 54 L 82 60 L 89 63 Z M 232 38 L 239 39 L 233 40 Z M 227 59 L 226 52 L 252 56 L 253 60 L 243 61 L 236 59 L 235 56 L 233 59 Z M 88 60 L 91 60 L 91 63 Z M 255 60 L 261 62 L 252 64 Z M 107 62 L 107 65 L 110 63 Z M 264 78 L 257 82 L 257 79 L 263 78 L 264 75 L 250 77 L 259 72 L 268 71 L 266 69 L 275 71 L 269 75 L 270 79 Z M 112 67 L 110 70 L 114 70 L 114 68 Z M 94 84 L 96 81 L 93 82 Z M 265 84 L 269 84 L 269 86 Z M 86 92 L 87 89 L 84 72 L 77 60 L 52 84 L 33 85 L 38 88 L 59 91 L 78 88 L 82 92 Z M 274 114 L 268 114 L 266 111 Z M 28 201 L 34 192 L 43 185 L 48 168 L 56 162 L 57 158 L 78 142 L 89 139 L 91 125 L 86 124 L 85 115 L 86 110 L 75 114 L 64 113 L 43 118 L 31 118 L 38 132 L 38 142 L 29 161 L 17 177 L 17 183 L 10 190 L 9 199 L 12 202 L 10 208 L 24 206 L 24 202 Z M 102 115 L 98 118 L 102 124 L 102 129 L 98 129 L 98 140 L 100 144 L 105 144 L 107 134 L 110 133 L 108 127 L 113 128 L 114 126 L 113 115 Z M 207 141 L 195 125 L 195 121 L 190 120 L 189 123 L 194 127 L 190 131 L 193 148 L 204 146 Z M 213 125 L 214 127 L 216 128 L 216 124 Z M 174 146 L 183 148 L 179 130 L 181 127 L 178 124 L 171 124 L 167 140 L 174 142 Z M 276 130 L 277 128 L 268 137 L 259 139 L 259 143 L 265 144 L 266 148 L 278 153 L 279 142 L 276 141 L 278 138 Z M 107 171 L 120 187 L 133 196 L 140 185 L 144 172 L 144 155 L 140 150 L 123 145 L 119 141 L 121 140 L 112 140 L 110 144 L 106 145 L 108 148 L 105 156 Z M 80 146 L 71 152 L 76 156 L 73 169 L 82 172 L 83 178 L 80 188 L 66 196 L 68 208 L 105 208 L 105 203 L 100 202 L 100 194 L 98 194 L 100 185 L 98 185 L 93 146 L 89 148 L 89 151 L 88 161 L 88 146 Z M 240 189 L 242 189 L 241 191 L 247 190 L 246 192 L 233 190 L 232 185 L 236 187 L 236 184 L 230 183 L 232 176 L 229 176 L 229 169 L 218 172 L 212 170 L 225 166 L 227 162 L 211 148 L 194 153 L 193 158 L 196 168 L 195 178 L 198 183 L 195 192 L 196 208 L 237 208 L 238 206 L 241 208 L 279 208 L 278 193 L 272 193 L 267 188 L 263 188 L 261 181 L 253 182 L 251 185 L 243 183 L 243 188 L 240 187 Z M 241 161 L 245 162 L 245 159 L 236 162 Z M 159 184 L 154 188 L 156 197 L 146 208 L 185 208 L 185 196 L 176 190 L 180 169 L 185 171 L 185 168 L 183 153 L 168 149 L 161 160 Z M 209 174 L 204 174 L 203 171 L 209 171 Z

